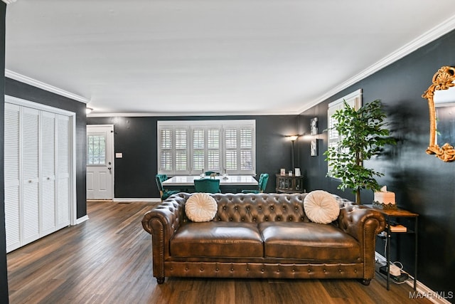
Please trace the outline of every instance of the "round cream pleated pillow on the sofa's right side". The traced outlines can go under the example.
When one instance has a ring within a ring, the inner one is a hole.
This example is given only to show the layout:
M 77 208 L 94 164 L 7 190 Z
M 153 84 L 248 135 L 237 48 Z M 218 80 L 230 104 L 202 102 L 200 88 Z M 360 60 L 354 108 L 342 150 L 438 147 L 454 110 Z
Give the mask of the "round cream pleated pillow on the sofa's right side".
M 338 219 L 340 214 L 340 206 L 335 197 L 322 190 L 306 194 L 304 210 L 310 221 L 319 224 L 329 224 Z

